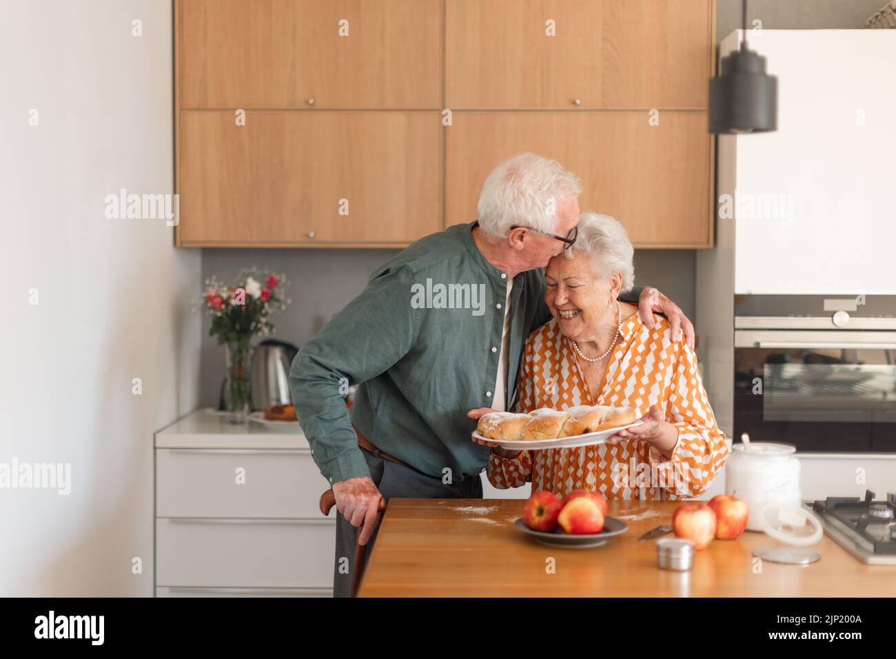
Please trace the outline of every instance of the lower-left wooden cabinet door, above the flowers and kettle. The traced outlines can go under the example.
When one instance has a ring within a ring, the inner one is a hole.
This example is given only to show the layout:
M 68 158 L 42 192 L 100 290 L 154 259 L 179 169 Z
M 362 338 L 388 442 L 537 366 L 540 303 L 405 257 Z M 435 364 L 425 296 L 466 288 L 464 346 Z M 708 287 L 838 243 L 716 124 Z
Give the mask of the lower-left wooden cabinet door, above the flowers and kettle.
M 182 111 L 178 243 L 400 247 L 439 230 L 440 117 Z

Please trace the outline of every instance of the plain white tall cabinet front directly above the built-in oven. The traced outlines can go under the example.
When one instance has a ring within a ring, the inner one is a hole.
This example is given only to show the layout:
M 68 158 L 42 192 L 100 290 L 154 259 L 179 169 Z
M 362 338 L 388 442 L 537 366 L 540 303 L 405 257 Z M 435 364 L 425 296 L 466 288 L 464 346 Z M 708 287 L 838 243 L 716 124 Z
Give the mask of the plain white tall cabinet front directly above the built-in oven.
M 719 57 L 740 36 L 723 39 Z M 778 78 L 778 130 L 719 137 L 718 233 L 734 243 L 719 266 L 733 267 L 731 294 L 896 294 L 896 30 L 751 30 L 748 40 Z M 723 276 L 703 275 L 701 257 L 698 280 Z

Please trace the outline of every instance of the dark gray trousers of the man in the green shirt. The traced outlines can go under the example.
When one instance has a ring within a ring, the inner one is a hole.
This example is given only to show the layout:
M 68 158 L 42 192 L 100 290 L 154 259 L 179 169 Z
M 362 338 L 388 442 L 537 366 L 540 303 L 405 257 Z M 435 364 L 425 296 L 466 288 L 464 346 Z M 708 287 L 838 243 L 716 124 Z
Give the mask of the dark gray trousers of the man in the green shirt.
M 444 483 L 441 478 L 427 476 L 401 464 L 384 460 L 365 449 L 361 453 L 370 467 L 370 476 L 376 487 L 387 500 L 399 499 L 482 499 L 482 481 L 479 476 L 470 476 L 460 483 Z M 351 591 L 351 569 L 355 562 L 355 545 L 358 543 L 359 528 L 355 528 L 337 513 L 336 560 L 333 569 L 333 597 L 349 597 Z M 367 542 L 367 560 L 376 540 L 376 534 Z

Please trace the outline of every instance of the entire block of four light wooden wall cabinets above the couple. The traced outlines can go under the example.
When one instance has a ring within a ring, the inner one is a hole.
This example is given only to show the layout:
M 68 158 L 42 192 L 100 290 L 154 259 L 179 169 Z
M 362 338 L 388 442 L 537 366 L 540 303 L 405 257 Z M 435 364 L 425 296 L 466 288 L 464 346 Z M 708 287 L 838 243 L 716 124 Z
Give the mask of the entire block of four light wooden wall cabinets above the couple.
M 712 246 L 714 0 L 175 12 L 178 245 L 404 247 L 472 221 L 488 171 L 530 151 L 635 247 Z

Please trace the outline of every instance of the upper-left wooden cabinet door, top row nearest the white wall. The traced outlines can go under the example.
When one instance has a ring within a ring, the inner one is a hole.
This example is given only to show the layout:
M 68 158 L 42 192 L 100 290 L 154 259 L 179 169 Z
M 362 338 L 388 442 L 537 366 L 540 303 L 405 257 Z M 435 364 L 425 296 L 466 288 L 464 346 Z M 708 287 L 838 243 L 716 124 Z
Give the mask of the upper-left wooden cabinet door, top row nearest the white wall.
M 441 106 L 441 0 L 177 4 L 182 108 Z

